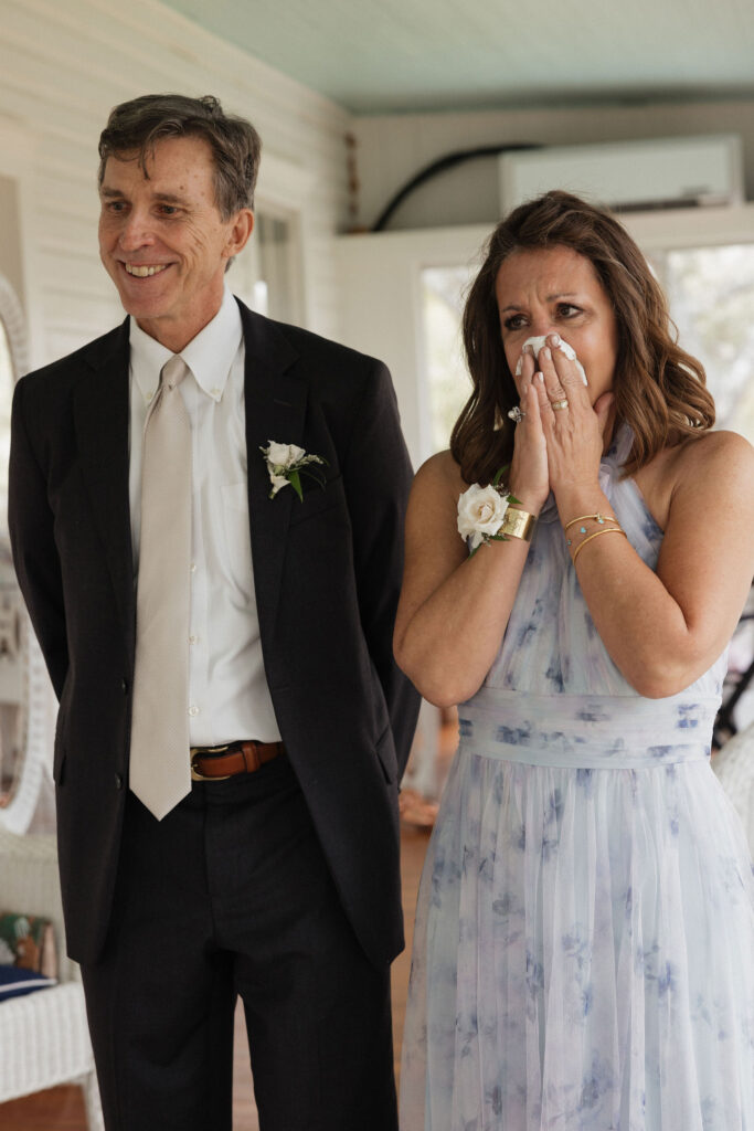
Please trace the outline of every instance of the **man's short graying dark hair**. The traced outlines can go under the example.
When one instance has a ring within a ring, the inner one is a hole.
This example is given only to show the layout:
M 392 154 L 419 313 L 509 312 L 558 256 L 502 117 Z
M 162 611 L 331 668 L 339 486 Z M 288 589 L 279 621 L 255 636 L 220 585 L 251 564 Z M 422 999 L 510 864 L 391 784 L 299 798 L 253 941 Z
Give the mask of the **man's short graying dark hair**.
M 224 221 L 253 208 L 262 143 L 245 118 L 225 114 L 211 94 L 145 94 L 115 106 L 99 136 L 99 184 L 109 157 L 146 162 L 165 138 L 199 137 L 209 145 L 215 167 L 215 202 Z

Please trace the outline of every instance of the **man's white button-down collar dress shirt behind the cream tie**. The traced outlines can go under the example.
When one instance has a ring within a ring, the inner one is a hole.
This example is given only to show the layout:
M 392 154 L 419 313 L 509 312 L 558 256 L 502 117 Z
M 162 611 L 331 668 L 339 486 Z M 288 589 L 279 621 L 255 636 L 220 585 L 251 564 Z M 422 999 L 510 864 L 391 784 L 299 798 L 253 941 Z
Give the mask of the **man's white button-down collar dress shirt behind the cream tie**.
M 138 579 L 141 455 L 149 403 L 173 354 L 131 319 L 131 542 Z M 243 328 L 225 290 L 215 318 L 181 356 L 191 369 L 180 386 L 191 420 L 192 547 L 189 728 L 192 746 L 235 739 L 275 742 L 280 732 L 265 677 L 251 568 Z M 261 454 L 259 456 L 261 459 Z

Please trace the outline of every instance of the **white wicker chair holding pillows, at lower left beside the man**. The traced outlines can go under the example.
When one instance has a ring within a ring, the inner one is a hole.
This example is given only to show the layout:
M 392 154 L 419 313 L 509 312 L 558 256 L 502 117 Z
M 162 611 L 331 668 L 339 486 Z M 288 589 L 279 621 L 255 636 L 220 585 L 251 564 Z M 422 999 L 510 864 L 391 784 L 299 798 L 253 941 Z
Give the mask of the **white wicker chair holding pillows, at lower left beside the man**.
M 104 1131 L 78 966 L 66 958 L 54 837 L 0 826 L 0 909 L 52 920 L 59 985 L 0 1003 L 0 1103 L 78 1083 L 89 1131 Z

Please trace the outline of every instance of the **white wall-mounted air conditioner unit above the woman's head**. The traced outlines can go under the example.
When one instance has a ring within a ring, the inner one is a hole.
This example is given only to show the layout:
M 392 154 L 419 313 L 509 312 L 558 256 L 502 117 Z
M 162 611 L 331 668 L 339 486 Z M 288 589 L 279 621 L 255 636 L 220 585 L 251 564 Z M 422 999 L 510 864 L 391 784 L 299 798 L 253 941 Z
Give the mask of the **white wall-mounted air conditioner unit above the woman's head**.
M 501 215 L 551 189 L 623 211 L 743 204 L 740 138 L 554 146 L 500 157 Z

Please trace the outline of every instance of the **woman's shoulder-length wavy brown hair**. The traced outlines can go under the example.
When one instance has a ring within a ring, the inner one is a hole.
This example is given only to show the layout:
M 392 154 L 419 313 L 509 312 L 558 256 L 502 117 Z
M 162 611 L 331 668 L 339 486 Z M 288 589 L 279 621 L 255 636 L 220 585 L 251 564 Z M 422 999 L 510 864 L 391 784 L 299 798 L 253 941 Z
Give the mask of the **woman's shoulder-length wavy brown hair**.
M 513 251 L 556 244 L 590 260 L 615 312 L 616 422 L 629 423 L 634 434 L 625 473 L 714 423 L 704 369 L 676 345 L 665 295 L 629 233 L 601 208 L 569 192 L 547 192 L 520 205 L 492 233 L 463 310 L 474 391 L 456 422 L 450 450 L 467 483 L 488 483 L 513 455 L 514 425 L 508 411 L 519 396 L 503 351 L 497 273 Z

